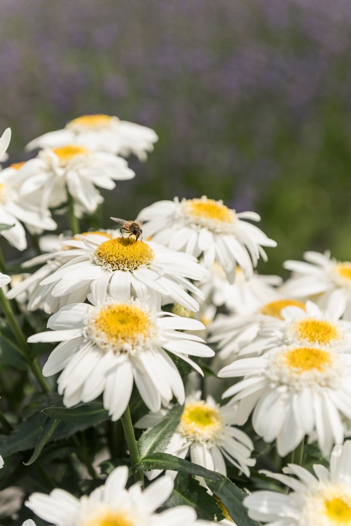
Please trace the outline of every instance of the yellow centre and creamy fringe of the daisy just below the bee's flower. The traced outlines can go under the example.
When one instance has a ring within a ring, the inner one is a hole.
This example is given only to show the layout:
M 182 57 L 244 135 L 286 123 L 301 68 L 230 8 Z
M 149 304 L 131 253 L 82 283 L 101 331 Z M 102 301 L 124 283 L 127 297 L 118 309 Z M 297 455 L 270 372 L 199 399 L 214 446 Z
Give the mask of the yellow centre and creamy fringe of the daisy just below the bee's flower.
M 150 338 L 152 328 L 148 312 L 138 305 L 113 303 L 96 309 L 87 331 L 101 349 L 128 352 Z

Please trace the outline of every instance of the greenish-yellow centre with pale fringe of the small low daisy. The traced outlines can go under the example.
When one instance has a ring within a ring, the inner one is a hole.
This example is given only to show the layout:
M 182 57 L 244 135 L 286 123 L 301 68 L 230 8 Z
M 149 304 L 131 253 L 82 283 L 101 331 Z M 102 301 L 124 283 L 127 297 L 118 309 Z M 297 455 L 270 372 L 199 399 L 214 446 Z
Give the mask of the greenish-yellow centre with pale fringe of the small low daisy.
M 199 400 L 185 405 L 178 431 L 189 440 L 208 442 L 218 437 L 223 427 L 220 411 Z

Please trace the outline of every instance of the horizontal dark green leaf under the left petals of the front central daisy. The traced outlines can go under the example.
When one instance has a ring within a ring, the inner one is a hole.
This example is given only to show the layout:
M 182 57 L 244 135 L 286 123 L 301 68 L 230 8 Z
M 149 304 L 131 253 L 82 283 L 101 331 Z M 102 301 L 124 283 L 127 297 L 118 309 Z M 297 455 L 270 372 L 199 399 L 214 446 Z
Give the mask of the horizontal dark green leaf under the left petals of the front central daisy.
M 110 419 L 103 404 L 97 402 L 86 403 L 74 408 L 48 407 L 43 409 L 43 413 L 48 417 L 63 420 L 64 422 L 88 424 L 89 426 L 95 426 L 95 424 Z

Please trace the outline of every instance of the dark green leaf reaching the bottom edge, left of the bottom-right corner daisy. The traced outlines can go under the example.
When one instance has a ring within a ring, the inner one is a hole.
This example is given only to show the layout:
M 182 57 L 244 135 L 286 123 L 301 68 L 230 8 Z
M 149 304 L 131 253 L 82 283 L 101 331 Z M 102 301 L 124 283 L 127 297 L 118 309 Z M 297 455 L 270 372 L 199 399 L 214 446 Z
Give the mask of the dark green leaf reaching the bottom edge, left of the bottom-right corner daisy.
M 238 488 L 228 477 L 220 475 L 221 481 L 205 478 L 210 490 L 218 497 L 228 510 L 233 521 L 240 526 L 260 526 L 260 523 L 250 519 L 242 501 L 246 493 Z

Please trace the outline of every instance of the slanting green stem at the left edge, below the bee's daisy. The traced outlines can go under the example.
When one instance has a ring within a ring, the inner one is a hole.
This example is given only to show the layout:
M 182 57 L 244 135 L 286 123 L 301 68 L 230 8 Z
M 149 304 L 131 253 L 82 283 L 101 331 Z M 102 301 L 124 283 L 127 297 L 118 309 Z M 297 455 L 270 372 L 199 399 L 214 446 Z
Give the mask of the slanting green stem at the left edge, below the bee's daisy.
M 11 306 L 1 287 L 0 287 L 0 306 L 3 310 L 5 318 L 8 322 L 8 325 L 10 326 L 13 332 L 13 335 L 18 343 L 20 353 L 26 359 L 30 371 L 32 371 L 33 375 L 35 376 L 35 378 L 37 379 L 39 383 L 39 386 L 43 389 L 43 391 L 50 392 L 49 386 L 46 383 L 46 380 L 43 376 L 42 370 L 40 369 L 38 362 L 36 361 L 35 358 L 32 360 L 32 358 L 30 357 L 30 349 L 29 349 L 27 340 L 18 325 L 18 322 L 11 309 Z

